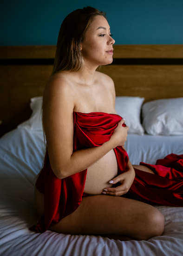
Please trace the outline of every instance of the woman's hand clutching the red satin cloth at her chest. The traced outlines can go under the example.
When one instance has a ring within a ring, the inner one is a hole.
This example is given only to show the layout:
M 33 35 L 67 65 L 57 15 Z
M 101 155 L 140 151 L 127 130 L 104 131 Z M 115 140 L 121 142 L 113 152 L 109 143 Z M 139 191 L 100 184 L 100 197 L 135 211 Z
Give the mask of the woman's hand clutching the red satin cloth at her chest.
M 111 139 L 114 140 L 116 146 L 124 146 L 127 137 L 127 131 L 129 130 L 128 126 L 122 126 L 124 124 L 124 119 L 118 123 L 118 126 L 113 131 Z

